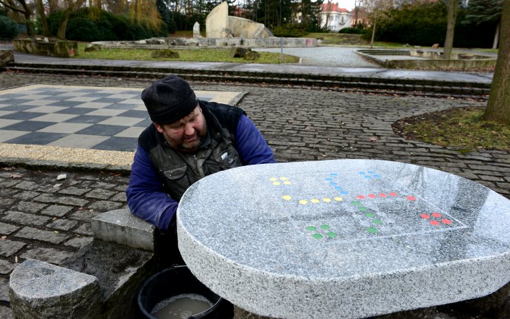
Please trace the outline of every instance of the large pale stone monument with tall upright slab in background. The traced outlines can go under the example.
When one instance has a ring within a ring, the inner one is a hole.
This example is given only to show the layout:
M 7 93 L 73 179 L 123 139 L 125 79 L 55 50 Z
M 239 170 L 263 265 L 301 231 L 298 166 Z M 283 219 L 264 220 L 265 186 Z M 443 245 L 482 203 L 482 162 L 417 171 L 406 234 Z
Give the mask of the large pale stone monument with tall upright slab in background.
M 205 32 L 207 38 L 242 37 L 252 39 L 273 37 L 272 32 L 263 23 L 240 17 L 230 17 L 227 1 L 220 3 L 207 15 Z

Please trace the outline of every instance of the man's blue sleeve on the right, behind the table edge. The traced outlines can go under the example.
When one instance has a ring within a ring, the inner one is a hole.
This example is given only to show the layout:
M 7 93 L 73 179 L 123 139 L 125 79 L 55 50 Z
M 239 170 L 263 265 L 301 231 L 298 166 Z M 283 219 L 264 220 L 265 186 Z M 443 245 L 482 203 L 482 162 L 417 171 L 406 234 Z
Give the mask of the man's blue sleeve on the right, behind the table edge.
M 243 165 L 275 163 L 272 150 L 248 116 L 241 115 L 236 130 L 236 150 Z

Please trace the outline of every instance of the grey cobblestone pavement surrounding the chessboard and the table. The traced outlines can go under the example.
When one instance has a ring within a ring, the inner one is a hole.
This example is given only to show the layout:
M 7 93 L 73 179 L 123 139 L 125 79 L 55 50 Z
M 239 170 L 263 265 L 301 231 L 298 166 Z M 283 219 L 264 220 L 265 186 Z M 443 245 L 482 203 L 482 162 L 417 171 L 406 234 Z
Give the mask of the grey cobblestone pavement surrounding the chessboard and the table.
M 69 84 L 144 88 L 151 80 L 0 73 L 0 88 Z M 346 93 L 307 87 L 192 83 L 196 90 L 239 90 L 238 104 L 259 127 L 277 161 L 371 158 L 414 163 L 458 174 L 510 198 L 509 152 L 459 152 L 405 141 L 397 119 L 482 102 Z M 1 166 L 1 165 L 0 165 Z M 57 181 L 59 174 L 67 178 Z M 26 258 L 59 264 L 92 240 L 90 218 L 125 207 L 128 172 L 80 172 L 43 167 L 0 168 L 0 318 L 10 318 L 8 278 Z M 443 316 L 444 315 L 444 316 Z M 438 318 L 461 317 L 443 313 Z M 502 318 L 502 317 L 501 317 Z

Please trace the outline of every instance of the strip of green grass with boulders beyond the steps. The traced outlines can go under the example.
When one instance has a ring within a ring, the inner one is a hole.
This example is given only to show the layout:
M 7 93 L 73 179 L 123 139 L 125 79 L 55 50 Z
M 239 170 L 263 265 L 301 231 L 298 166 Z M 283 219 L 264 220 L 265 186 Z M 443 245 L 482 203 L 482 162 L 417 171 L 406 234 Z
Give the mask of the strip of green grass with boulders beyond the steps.
M 78 44 L 79 59 L 108 59 L 108 60 L 136 60 L 136 61 L 196 61 L 196 62 L 234 62 L 234 63 L 281 63 L 281 55 L 272 52 L 258 52 L 261 56 L 254 61 L 243 58 L 231 58 L 229 49 L 172 49 L 179 52 L 179 58 L 153 58 L 154 50 L 149 49 L 101 49 L 96 52 L 85 52 L 87 43 Z M 299 58 L 288 54 L 283 55 L 283 63 L 298 63 Z

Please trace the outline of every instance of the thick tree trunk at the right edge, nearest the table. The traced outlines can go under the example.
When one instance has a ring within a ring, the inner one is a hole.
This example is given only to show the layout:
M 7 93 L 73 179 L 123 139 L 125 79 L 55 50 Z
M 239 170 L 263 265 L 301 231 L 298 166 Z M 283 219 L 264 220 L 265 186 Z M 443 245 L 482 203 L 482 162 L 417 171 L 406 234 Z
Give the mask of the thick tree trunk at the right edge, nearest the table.
M 484 119 L 510 125 L 510 1 L 503 1 L 500 50 Z

